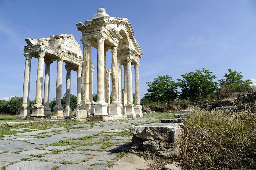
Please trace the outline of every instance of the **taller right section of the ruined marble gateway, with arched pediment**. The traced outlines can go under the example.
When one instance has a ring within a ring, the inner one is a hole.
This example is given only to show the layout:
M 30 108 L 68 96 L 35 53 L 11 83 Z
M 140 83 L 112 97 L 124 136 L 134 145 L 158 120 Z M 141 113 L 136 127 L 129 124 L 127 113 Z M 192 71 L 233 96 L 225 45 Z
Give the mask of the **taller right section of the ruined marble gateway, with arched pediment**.
M 80 110 L 86 110 L 89 119 L 109 120 L 121 119 L 123 116 L 143 116 L 139 92 L 139 60 L 143 53 L 137 43 L 133 28 L 127 18 L 110 17 L 104 8 L 97 10 L 92 20 L 77 23 L 82 32 L 82 101 Z M 92 101 L 91 79 L 91 48 L 97 53 L 97 102 Z M 106 68 L 106 51 L 112 52 L 112 102 L 109 103 L 108 93 L 109 71 Z M 121 66 L 124 75 L 121 75 Z M 133 105 L 132 68 L 135 69 L 135 98 Z M 122 92 L 122 77 L 124 92 Z M 126 97 L 127 96 L 127 97 Z

